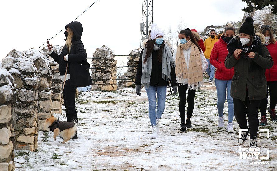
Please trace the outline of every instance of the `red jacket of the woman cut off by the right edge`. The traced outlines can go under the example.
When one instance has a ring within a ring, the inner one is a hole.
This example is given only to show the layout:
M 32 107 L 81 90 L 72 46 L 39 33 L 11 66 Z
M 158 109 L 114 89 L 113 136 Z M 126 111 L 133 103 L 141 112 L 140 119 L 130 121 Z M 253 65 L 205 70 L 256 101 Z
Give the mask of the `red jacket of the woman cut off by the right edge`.
M 277 42 L 275 44 L 270 43 L 265 47 L 267 47 L 274 61 L 273 66 L 265 71 L 266 81 L 277 81 Z

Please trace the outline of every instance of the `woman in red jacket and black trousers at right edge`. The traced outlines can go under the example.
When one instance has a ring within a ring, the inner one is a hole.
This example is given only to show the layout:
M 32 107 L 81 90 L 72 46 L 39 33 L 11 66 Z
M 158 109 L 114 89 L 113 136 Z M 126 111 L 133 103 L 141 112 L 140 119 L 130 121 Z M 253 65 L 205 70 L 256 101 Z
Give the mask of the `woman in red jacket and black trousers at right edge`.
M 265 77 L 267 82 L 267 95 L 264 99 L 262 99 L 260 104 L 261 111 L 261 122 L 260 125 L 267 125 L 266 118 L 266 108 L 267 108 L 267 98 L 269 91 L 269 106 L 267 111 L 270 113 L 270 118 L 273 121 L 277 120 L 277 116 L 275 113 L 275 107 L 277 104 L 277 43 L 273 37 L 273 30 L 269 25 L 262 25 L 260 29 L 260 33 L 265 35 L 265 47 L 268 49 L 274 63 L 270 69 L 265 70 Z

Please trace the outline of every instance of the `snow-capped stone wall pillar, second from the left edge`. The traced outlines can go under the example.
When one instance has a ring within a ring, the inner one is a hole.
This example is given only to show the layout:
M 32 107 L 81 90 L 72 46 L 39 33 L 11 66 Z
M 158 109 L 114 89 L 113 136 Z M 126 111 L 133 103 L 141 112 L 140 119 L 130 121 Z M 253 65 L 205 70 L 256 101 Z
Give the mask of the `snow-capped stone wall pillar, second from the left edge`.
M 18 150 L 37 149 L 38 136 L 38 88 L 40 76 L 34 61 L 25 53 L 12 50 L 2 60 L 2 66 L 13 76 L 16 84 L 16 103 L 14 104 L 15 125 L 14 145 Z

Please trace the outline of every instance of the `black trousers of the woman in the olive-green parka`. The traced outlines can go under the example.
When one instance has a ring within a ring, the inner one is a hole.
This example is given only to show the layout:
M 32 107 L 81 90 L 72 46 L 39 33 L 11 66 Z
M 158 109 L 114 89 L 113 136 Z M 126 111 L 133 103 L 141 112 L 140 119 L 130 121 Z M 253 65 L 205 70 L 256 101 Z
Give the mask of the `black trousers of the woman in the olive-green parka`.
M 245 101 L 234 98 L 234 114 L 241 129 L 248 129 L 245 113 L 248 118 L 250 139 L 256 139 L 258 135 L 259 119 L 258 109 L 261 100 L 249 100 L 246 91 Z

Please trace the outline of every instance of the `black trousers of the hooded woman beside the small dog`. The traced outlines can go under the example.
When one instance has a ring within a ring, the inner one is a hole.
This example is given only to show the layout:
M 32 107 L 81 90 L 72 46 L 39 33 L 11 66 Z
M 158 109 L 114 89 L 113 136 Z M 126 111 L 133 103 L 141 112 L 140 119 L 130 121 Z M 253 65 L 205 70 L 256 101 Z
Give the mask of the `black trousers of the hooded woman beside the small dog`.
M 76 88 L 70 85 L 70 79 L 65 81 L 63 90 L 63 102 L 68 122 L 78 121 L 77 111 L 75 108 Z

